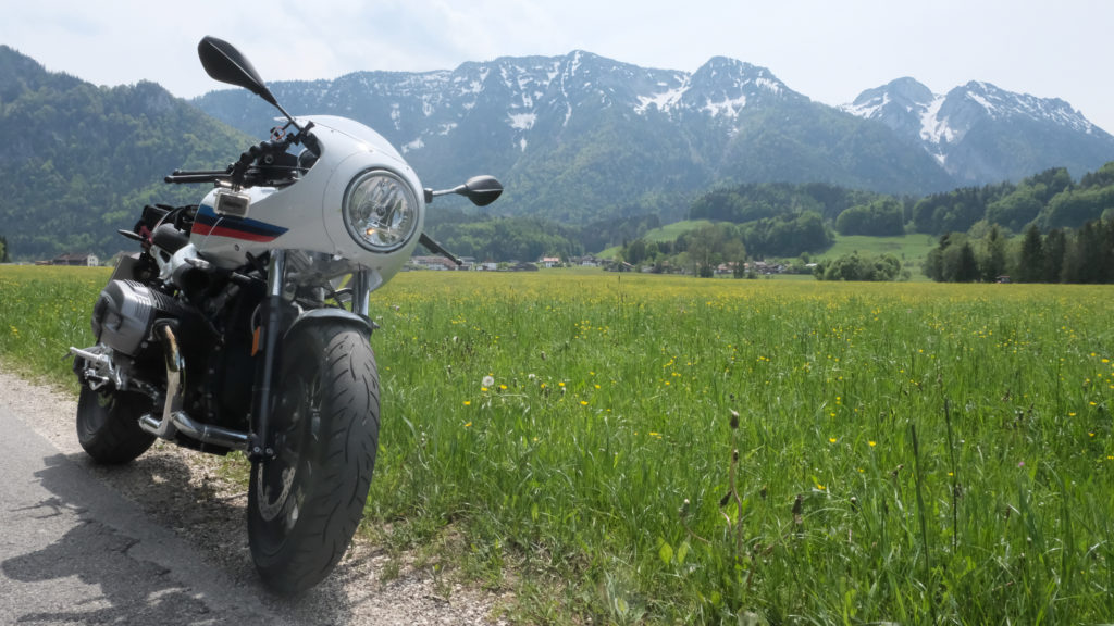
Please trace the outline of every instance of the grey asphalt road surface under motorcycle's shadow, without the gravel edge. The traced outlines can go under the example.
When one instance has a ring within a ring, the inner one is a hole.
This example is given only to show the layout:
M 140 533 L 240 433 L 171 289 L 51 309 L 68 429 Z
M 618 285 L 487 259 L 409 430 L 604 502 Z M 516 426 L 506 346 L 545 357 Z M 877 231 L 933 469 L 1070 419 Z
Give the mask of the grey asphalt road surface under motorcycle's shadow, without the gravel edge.
M 0 433 L 0 624 L 292 623 L 2 405 Z

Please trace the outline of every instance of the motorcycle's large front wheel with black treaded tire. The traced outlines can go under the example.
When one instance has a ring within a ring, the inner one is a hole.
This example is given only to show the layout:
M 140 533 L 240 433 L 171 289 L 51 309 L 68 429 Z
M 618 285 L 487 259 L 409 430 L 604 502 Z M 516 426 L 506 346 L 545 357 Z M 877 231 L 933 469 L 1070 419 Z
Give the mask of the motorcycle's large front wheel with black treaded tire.
M 295 327 L 282 346 L 274 458 L 252 463 L 247 534 L 270 587 L 296 594 L 332 571 L 363 515 L 379 446 L 379 373 L 368 338 Z

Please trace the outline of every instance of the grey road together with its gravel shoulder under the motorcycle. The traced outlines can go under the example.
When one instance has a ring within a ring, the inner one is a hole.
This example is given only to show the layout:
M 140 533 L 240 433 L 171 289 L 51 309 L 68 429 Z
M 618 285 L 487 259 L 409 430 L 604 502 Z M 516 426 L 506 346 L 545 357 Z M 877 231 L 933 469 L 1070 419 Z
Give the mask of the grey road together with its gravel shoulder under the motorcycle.
M 505 624 L 492 591 L 364 539 L 313 589 L 276 596 L 251 561 L 241 486 L 211 482 L 215 458 L 156 443 L 96 466 L 76 410 L 0 363 L 0 626 Z

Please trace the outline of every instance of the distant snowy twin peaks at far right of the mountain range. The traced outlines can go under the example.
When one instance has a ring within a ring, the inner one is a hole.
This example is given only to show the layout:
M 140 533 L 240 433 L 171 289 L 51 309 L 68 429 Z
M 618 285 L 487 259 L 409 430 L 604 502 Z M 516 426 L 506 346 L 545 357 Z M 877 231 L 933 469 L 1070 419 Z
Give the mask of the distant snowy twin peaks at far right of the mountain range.
M 1079 175 L 1114 154 L 1114 137 L 1064 100 L 989 82 L 970 81 L 939 95 L 899 78 L 841 108 L 922 146 L 959 183 L 1018 179 L 1056 166 Z

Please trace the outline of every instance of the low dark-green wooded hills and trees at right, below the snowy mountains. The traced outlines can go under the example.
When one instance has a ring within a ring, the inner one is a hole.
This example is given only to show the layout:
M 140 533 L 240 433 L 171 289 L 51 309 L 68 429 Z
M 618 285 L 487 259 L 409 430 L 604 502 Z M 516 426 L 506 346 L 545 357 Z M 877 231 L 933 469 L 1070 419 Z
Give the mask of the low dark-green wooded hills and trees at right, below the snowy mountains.
M 938 281 L 994 281 L 1013 273 L 1025 282 L 1094 283 L 1114 276 L 1114 163 L 1077 183 L 1065 168 L 1053 168 L 1016 185 L 965 187 L 919 200 L 819 184 L 741 185 L 696 198 L 690 216 L 715 223 L 674 242 L 627 242 L 619 255 L 659 270 L 710 274 L 739 258 L 822 252 L 834 226 L 841 235 L 939 236 L 925 267 Z M 1010 239 L 1022 229 L 1024 244 Z M 701 242 L 696 256 L 694 241 Z M 900 264 L 851 255 L 824 271 L 829 280 L 892 280 Z

